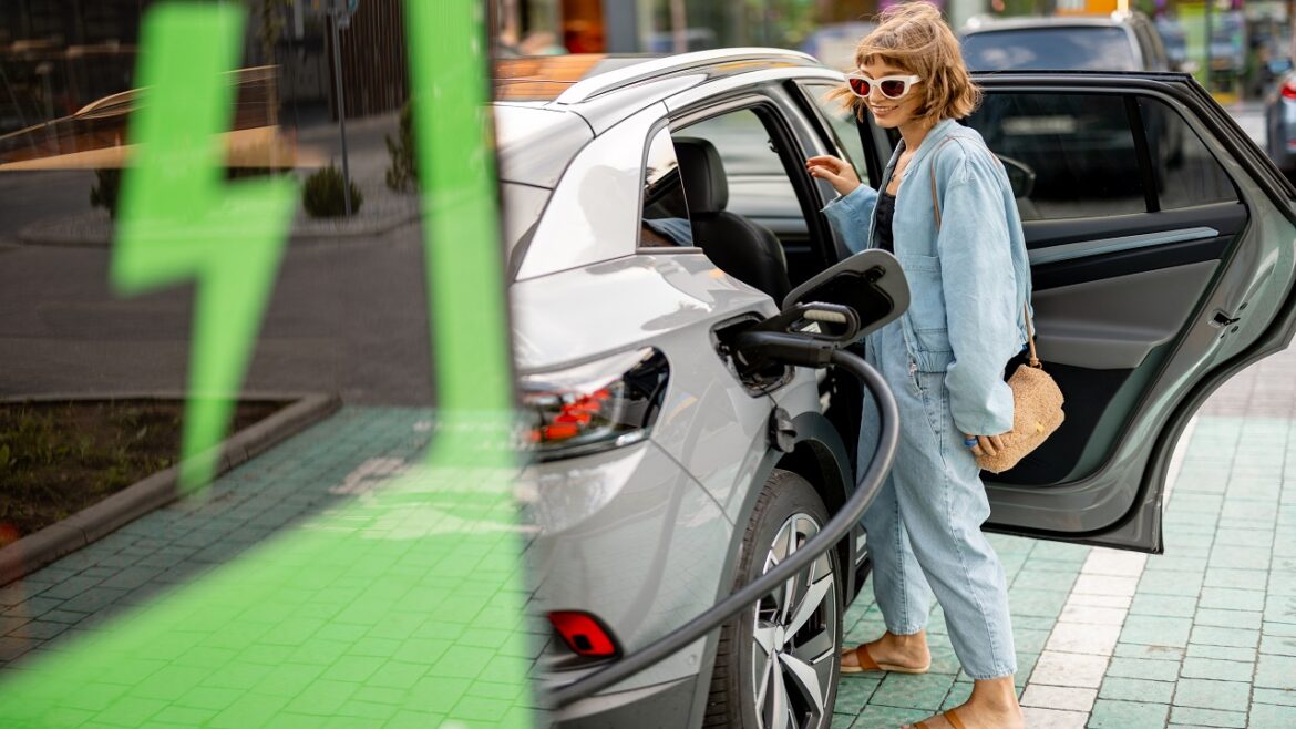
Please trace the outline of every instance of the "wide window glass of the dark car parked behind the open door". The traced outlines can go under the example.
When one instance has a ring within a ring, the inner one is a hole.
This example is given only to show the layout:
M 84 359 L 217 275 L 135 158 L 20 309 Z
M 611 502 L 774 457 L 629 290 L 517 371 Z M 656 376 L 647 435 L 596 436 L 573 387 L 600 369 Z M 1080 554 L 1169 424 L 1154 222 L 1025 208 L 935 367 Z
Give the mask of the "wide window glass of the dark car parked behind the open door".
M 1135 71 L 1134 47 L 1118 27 L 1033 27 L 975 32 L 963 39 L 973 71 Z

